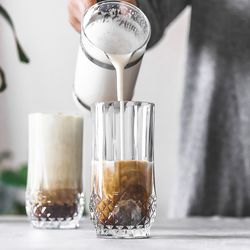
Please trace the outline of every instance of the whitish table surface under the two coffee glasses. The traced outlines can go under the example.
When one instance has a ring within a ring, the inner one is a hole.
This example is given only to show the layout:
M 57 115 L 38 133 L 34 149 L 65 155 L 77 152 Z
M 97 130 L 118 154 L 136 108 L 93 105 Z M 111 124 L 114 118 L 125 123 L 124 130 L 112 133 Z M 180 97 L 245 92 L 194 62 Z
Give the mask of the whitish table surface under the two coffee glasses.
M 250 219 L 159 219 L 149 239 L 99 239 L 89 219 L 76 230 L 33 229 L 25 217 L 0 217 L 0 250 L 250 250 Z

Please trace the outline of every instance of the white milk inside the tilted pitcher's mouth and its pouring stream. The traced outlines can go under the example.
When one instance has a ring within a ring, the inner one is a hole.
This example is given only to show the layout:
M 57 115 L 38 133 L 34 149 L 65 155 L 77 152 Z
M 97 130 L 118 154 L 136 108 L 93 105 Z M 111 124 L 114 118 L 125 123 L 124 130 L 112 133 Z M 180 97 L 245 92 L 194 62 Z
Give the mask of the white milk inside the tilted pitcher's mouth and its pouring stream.
M 95 46 L 105 52 L 116 70 L 117 100 L 120 102 L 120 158 L 124 160 L 124 69 L 145 38 L 126 31 L 124 25 L 112 20 L 93 22 L 85 33 Z

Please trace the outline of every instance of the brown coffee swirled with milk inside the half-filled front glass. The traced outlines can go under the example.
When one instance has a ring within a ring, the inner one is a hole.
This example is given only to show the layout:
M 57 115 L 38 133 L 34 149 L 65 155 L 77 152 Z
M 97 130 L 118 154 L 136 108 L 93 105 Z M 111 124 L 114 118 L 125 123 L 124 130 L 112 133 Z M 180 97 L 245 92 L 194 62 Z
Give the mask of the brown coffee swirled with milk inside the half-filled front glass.
M 104 228 L 144 227 L 152 216 L 152 164 L 95 162 L 92 218 Z

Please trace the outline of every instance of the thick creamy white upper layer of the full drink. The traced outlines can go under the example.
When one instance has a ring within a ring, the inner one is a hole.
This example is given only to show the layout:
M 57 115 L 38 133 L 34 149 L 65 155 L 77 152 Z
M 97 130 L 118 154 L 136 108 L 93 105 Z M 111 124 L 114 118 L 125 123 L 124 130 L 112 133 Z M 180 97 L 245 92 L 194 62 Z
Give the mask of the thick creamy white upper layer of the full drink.
M 83 120 L 77 115 L 29 115 L 29 172 L 27 189 L 82 188 Z

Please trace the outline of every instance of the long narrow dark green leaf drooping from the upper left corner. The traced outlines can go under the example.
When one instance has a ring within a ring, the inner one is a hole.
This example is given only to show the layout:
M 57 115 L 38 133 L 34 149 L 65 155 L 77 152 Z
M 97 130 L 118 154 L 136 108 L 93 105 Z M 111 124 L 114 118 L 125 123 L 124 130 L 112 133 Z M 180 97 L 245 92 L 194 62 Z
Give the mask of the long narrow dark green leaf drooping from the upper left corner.
M 15 42 L 16 42 L 16 47 L 17 47 L 17 52 L 18 52 L 18 56 L 19 56 L 19 60 L 23 63 L 29 63 L 29 58 L 27 57 L 27 55 L 25 54 L 18 38 L 17 38 L 17 34 L 16 34 L 16 30 L 15 30 L 15 26 L 14 23 L 10 17 L 10 15 L 8 14 L 8 12 L 3 8 L 3 6 L 0 4 L 0 15 L 2 15 L 4 17 L 4 19 L 7 21 L 7 23 L 10 25 L 14 38 L 15 38 Z

